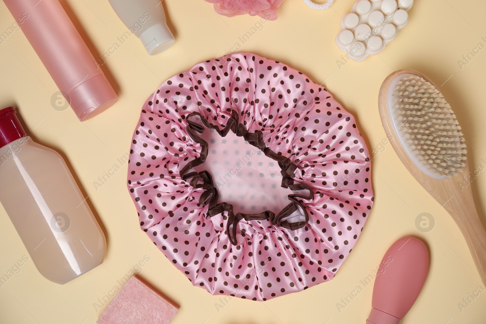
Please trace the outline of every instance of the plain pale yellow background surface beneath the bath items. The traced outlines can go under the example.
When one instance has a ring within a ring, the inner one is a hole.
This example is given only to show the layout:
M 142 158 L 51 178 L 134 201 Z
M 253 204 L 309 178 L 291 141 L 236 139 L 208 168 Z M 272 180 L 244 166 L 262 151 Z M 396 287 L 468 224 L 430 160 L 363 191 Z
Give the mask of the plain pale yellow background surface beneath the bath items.
M 220 17 L 203 0 L 166 0 L 177 42 L 168 51 L 149 56 L 131 36 L 103 66 L 120 101 L 84 123 L 71 109 L 53 109 L 51 96 L 58 89 L 21 31 L 0 44 L 0 108 L 16 106 L 34 139 L 64 154 L 78 184 L 89 195 L 108 241 L 104 264 L 64 286 L 44 279 L 32 260 L 26 262 L 20 273 L 0 287 L 0 322 L 95 323 L 105 307 L 97 312 L 93 304 L 148 256 L 150 261 L 141 268 L 140 276 L 180 305 L 174 324 L 364 323 L 372 287 L 363 287 L 360 280 L 376 269 L 395 240 L 414 235 L 427 242 L 431 266 L 424 289 L 404 323 L 485 323 L 486 292 L 462 312 L 458 307 L 469 293 L 485 285 L 459 229 L 407 172 L 391 145 L 380 144 L 385 133 L 377 96 L 382 80 L 399 68 L 417 69 L 441 85 L 464 128 L 470 170 L 478 170 L 470 185 L 485 223 L 486 49 L 462 69 L 458 60 L 478 43 L 486 45 L 486 37 L 481 38 L 486 36 L 486 3 L 417 0 L 409 12 L 408 25 L 384 51 L 338 68 L 336 61 L 343 53 L 334 38 L 340 31 L 341 17 L 352 4 L 352 0 L 336 0 L 332 8 L 318 12 L 301 0 L 286 0 L 278 10 L 278 19 L 266 22 L 243 44 L 238 37 L 248 32 L 258 17 Z M 127 31 L 106 0 L 69 0 L 64 5 L 96 56 L 119 42 L 117 37 Z M 12 23 L 14 18 L 0 1 L 0 33 Z M 221 56 L 235 43 L 240 43 L 241 51 L 282 61 L 318 83 L 325 81 L 327 89 L 356 116 L 370 151 L 375 150 L 372 173 L 376 199 L 361 239 L 333 280 L 264 303 L 235 298 L 218 311 L 215 303 L 220 296 L 193 287 L 139 229 L 125 185 L 127 166 L 117 158 L 129 150 L 142 104 L 164 80 L 200 61 Z M 114 164 L 121 170 L 96 189 L 93 182 Z M 435 220 L 428 233 L 415 225 L 417 215 L 424 212 Z M 1 207 L 0 246 L 3 275 L 27 252 Z M 363 291 L 339 311 L 336 303 L 358 285 Z

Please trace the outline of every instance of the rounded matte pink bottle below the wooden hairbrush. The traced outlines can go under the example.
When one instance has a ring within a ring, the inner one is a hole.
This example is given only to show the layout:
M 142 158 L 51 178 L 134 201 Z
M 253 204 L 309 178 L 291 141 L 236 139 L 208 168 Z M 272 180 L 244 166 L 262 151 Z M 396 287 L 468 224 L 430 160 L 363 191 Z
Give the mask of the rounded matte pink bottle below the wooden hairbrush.
M 407 236 L 386 251 L 373 288 L 366 324 L 399 324 L 414 305 L 429 271 L 424 243 Z

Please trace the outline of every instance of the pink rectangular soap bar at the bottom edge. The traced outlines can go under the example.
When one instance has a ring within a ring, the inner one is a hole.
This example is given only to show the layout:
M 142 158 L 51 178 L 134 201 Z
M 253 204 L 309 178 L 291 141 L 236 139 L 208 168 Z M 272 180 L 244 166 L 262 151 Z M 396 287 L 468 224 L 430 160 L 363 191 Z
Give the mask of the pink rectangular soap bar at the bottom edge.
M 98 319 L 98 324 L 168 324 L 179 310 L 135 276 Z

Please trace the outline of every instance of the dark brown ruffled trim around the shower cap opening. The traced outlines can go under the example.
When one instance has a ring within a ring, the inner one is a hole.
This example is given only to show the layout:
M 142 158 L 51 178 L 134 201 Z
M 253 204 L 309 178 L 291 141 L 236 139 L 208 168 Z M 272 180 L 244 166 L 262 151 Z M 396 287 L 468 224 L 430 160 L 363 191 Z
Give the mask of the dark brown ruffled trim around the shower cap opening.
M 265 210 L 260 214 L 243 214 L 237 213 L 236 215 L 233 213 L 233 205 L 220 203 L 218 204 L 218 190 L 214 187 L 212 176 L 208 171 L 201 171 L 201 172 L 190 172 L 187 173 L 191 168 L 201 165 L 206 161 L 208 157 L 208 143 L 199 137 L 197 133 L 202 134 L 205 131 L 205 128 L 192 121 L 189 120 L 192 116 L 199 116 L 202 123 L 207 128 L 214 129 L 220 136 L 224 137 L 228 134 L 229 131 L 232 131 L 237 136 L 242 136 L 244 140 L 246 140 L 251 145 L 257 147 L 260 151 L 262 151 L 266 156 L 270 157 L 271 159 L 278 162 L 278 166 L 280 167 L 282 174 L 282 188 L 290 188 L 291 190 L 309 190 L 309 194 L 302 195 L 302 194 L 290 194 L 288 195 L 289 200 L 291 203 L 285 208 L 283 208 L 277 215 L 271 212 L 270 210 Z M 209 121 L 203 117 L 200 113 L 194 112 L 186 116 L 188 121 L 188 125 L 186 127 L 187 133 L 191 136 L 192 140 L 199 143 L 201 145 L 201 153 L 199 157 L 191 160 L 184 168 L 181 169 L 180 175 L 183 180 L 187 180 L 191 178 L 189 182 L 193 188 L 204 188 L 205 191 L 202 193 L 201 197 L 199 198 L 199 204 L 208 205 L 208 216 L 212 217 L 214 215 L 218 215 L 226 211 L 228 213 L 228 220 L 226 223 L 226 235 L 228 236 L 229 241 L 233 245 L 237 245 L 236 239 L 236 232 L 238 229 L 238 222 L 242 219 L 246 221 L 262 221 L 262 220 L 270 220 L 273 225 L 279 225 L 284 228 L 288 228 L 290 230 L 295 230 L 298 228 L 302 228 L 309 222 L 309 215 L 304 205 L 302 205 L 301 199 L 305 200 L 312 200 L 314 198 L 314 193 L 312 192 L 311 188 L 305 184 L 294 184 L 293 175 L 297 166 L 292 163 L 292 161 L 281 154 L 275 153 L 270 150 L 268 147 L 265 146 L 263 142 L 263 133 L 261 131 L 255 131 L 255 133 L 250 133 L 248 130 L 243 126 L 243 124 L 238 123 L 238 113 L 234 110 L 231 111 L 231 116 L 226 126 L 220 130 L 217 125 L 213 125 L 209 123 Z M 202 183 L 200 183 L 200 180 Z M 297 205 L 302 209 L 305 216 L 305 222 L 288 222 L 282 221 L 283 218 L 291 215 L 293 212 L 297 210 Z M 230 228 L 233 226 L 232 228 Z

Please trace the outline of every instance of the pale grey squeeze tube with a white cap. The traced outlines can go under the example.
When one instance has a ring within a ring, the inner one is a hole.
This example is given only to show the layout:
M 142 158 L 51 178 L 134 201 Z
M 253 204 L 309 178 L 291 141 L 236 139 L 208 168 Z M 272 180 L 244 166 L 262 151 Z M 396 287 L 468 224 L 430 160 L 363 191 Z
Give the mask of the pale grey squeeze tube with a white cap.
M 174 45 L 161 0 L 108 0 L 125 26 L 140 38 L 150 55 Z

